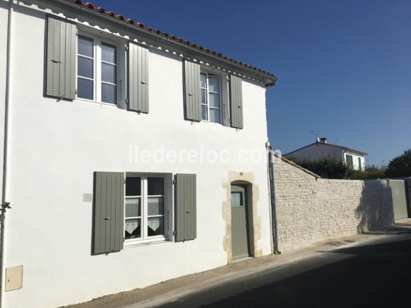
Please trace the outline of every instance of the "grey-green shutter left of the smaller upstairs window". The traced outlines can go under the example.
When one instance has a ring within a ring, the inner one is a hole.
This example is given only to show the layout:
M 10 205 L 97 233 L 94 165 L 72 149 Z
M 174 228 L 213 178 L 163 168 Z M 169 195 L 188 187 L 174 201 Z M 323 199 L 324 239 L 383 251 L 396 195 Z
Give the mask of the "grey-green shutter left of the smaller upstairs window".
M 201 121 L 200 65 L 183 61 L 184 119 Z

